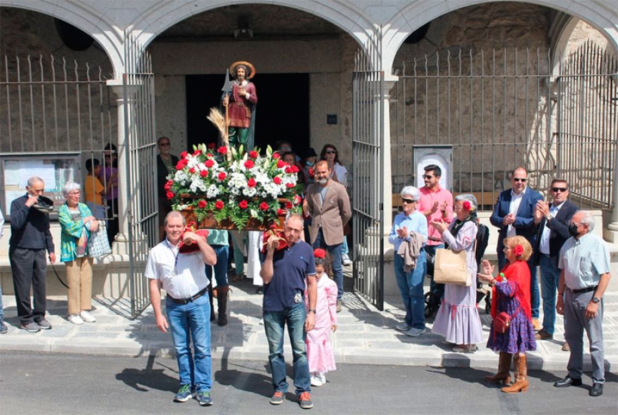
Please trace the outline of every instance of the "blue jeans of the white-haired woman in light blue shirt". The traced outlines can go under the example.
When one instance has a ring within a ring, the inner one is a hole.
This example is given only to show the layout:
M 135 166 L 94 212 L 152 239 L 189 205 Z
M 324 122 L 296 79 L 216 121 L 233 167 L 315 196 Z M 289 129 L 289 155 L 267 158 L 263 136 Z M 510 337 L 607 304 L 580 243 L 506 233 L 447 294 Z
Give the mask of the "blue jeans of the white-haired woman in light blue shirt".
M 406 309 L 406 324 L 413 328 L 425 328 L 423 279 L 426 272 L 425 251 L 421 251 L 416 259 L 416 267 L 411 272 L 404 270 L 404 259 L 395 254 L 395 277 Z

